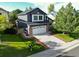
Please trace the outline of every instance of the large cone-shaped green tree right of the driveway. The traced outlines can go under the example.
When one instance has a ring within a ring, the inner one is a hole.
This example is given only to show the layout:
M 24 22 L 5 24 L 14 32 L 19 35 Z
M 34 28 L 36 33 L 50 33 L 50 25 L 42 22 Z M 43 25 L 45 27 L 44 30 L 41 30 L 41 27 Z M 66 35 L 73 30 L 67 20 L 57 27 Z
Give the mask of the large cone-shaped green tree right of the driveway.
M 57 13 L 54 28 L 63 33 L 73 32 L 77 24 L 75 9 L 71 3 L 64 8 L 62 7 Z

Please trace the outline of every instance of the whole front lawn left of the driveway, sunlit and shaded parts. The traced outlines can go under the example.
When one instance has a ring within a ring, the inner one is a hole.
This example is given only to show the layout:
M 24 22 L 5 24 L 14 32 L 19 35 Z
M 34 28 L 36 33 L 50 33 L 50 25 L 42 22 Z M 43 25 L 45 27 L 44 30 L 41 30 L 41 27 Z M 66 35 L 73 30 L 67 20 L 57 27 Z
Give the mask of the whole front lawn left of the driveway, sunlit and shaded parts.
M 2 35 L 0 44 L 0 56 L 25 57 L 45 50 L 33 39 L 24 39 L 20 35 Z M 32 47 L 30 47 L 32 45 Z

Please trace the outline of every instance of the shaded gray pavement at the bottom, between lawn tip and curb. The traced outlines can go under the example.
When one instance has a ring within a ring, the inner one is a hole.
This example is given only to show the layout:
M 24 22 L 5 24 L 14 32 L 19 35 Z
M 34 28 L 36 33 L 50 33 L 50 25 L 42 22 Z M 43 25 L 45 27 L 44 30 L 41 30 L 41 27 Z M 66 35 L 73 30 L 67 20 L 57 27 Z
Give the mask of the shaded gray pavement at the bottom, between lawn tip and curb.
M 53 49 L 48 49 L 36 54 L 33 54 L 29 57 L 56 57 L 57 54 L 60 54 L 63 50 L 53 50 Z

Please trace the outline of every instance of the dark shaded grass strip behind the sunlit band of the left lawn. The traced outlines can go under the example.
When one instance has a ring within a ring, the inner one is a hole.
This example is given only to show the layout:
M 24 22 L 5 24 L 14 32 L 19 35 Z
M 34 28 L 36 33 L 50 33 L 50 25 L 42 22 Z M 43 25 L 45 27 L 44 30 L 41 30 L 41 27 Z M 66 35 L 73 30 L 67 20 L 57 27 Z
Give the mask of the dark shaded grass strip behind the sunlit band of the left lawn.
M 25 42 L 25 41 L 33 41 L 33 39 L 24 39 L 21 35 L 1 35 L 2 42 Z

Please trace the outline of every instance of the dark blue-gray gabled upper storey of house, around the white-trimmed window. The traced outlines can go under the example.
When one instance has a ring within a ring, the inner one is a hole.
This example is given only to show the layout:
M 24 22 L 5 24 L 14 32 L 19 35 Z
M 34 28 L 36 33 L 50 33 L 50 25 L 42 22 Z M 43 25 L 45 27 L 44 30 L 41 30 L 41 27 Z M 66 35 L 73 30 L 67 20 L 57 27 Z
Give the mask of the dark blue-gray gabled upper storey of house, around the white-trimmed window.
M 39 12 L 39 13 L 38 13 Z M 29 12 L 22 12 L 19 15 L 27 15 L 27 22 L 32 22 L 32 14 L 42 14 L 44 15 L 44 21 L 37 21 L 37 22 L 33 22 L 33 23 L 48 23 L 49 22 L 49 18 L 46 17 L 47 14 L 45 12 L 43 12 L 42 10 L 40 10 L 39 8 L 35 8 L 32 11 Z

